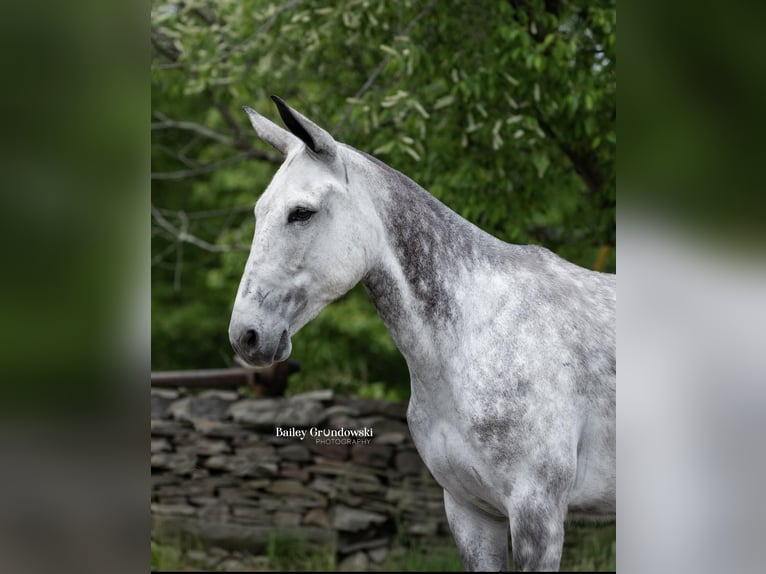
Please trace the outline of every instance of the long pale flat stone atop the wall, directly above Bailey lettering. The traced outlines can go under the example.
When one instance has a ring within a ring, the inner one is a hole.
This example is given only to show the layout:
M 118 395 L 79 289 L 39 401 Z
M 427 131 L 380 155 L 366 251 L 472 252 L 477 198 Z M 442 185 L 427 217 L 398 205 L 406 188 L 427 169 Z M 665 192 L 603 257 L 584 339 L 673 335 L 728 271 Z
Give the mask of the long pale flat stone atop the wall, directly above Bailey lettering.
M 231 405 L 228 413 L 238 423 L 273 432 L 277 426 L 315 426 L 322 405 L 312 400 L 246 399 Z

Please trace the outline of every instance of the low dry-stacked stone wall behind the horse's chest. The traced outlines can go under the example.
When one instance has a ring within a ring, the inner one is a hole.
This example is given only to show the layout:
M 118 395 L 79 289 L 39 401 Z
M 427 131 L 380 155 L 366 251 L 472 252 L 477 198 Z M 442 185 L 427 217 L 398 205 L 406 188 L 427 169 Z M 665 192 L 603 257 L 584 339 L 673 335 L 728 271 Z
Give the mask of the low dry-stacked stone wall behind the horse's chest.
M 403 539 L 450 539 L 406 404 L 168 389 L 151 401 L 155 532 L 256 555 L 292 536 L 334 553 L 341 569 L 375 569 Z M 339 429 L 372 436 L 323 436 Z

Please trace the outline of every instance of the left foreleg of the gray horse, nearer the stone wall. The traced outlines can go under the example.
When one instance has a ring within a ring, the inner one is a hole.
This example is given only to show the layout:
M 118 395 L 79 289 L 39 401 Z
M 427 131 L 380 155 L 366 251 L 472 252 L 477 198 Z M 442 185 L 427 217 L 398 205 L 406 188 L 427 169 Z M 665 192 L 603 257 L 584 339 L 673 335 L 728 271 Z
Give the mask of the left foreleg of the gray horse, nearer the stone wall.
M 508 570 L 508 522 L 495 518 L 444 491 L 452 536 L 468 572 Z

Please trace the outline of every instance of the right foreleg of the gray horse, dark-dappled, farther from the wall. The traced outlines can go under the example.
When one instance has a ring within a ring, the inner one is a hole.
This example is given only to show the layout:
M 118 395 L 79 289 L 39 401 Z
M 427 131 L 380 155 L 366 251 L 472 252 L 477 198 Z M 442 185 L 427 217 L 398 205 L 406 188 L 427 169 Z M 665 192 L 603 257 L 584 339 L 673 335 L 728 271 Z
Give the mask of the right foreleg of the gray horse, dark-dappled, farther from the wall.
M 511 548 L 517 572 L 559 569 L 566 511 L 556 508 L 556 504 L 540 497 L 529 497 L 511 506 Z

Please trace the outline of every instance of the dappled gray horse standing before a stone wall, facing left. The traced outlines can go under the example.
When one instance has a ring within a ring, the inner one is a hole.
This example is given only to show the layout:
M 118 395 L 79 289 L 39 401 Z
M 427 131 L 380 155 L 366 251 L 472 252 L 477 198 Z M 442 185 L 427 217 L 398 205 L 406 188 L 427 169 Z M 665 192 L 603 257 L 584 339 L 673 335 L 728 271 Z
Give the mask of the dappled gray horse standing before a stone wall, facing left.
M 614 275 L 485 233 L 274 97 L 229 327 L 253 365 L 363 282 L 407 360 L 407 420 L 467 570 L 556 570 L 567 513 L 615 513 Z

